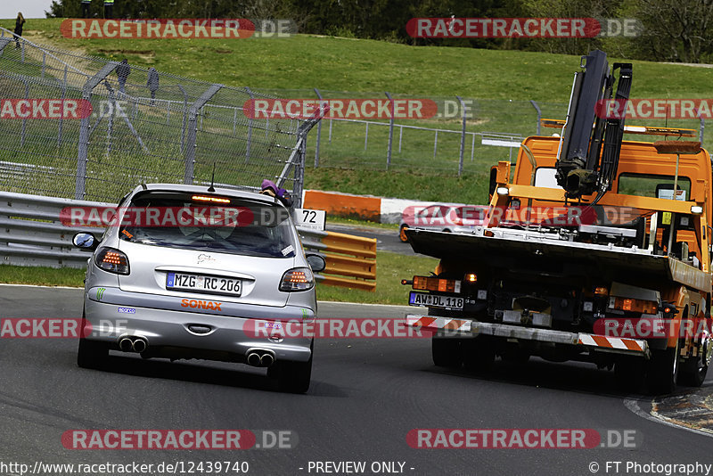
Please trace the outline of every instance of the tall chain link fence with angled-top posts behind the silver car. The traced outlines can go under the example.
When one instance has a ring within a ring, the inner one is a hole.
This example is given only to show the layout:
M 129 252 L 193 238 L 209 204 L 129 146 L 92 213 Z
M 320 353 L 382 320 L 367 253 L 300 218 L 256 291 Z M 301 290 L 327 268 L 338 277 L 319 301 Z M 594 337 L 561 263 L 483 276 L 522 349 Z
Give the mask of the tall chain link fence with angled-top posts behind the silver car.
M 0 189 L 80 200 L 117 201 L 140 183 L 208 185 L 214 172 L 216 185 L 255 189 L 270 178 L 299 197 L 316 123 L 252 119 L 242 105 L 273 96 L 55 50 L 7 30 L 0 97 Z M 53 116 L 57 100 L 65 109 Z

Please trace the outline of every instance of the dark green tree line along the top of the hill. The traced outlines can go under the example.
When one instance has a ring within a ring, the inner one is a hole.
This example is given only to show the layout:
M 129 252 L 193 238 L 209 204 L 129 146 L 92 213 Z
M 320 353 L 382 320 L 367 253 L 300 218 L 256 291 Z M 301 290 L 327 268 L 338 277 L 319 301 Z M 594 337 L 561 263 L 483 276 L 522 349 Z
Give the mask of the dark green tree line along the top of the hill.
M 90 15 L 102 18 L 103 0 Z M 48 17 L 80 18 L 80 0 L 53 0 Z M 414 38 L 412 18 L 635 19 L 635 37 Z M 615 56 L 657 62 L 713 62 L 712 0 L 115 0 L 114 18 L 291 19 L 300 33 L 358 37 L 410 45 Z

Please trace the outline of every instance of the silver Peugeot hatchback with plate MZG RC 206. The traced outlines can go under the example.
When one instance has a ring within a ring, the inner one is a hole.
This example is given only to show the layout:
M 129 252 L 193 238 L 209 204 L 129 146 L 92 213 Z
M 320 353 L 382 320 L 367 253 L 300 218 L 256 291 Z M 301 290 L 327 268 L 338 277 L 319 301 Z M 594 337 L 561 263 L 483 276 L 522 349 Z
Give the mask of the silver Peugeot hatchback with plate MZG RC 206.
M 78 365 L 110 350 L 267 367 L 280 389 L 307 391 L 316 318 L 313 271 L 290 211 L 274 197 L 194 185 L 140 185 L 88 259 Z M 288 335 L 287 329 L 290 328 Z

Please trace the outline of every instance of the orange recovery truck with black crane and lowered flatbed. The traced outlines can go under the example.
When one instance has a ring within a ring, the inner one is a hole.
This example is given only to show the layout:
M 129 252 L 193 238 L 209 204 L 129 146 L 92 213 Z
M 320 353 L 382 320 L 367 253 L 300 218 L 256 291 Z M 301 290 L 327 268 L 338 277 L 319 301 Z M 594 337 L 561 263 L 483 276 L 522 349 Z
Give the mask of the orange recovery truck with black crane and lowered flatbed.
M 597 112 L 627 100 L 630 64 L 614 64 L 616 93 L 604 53 L 582 68 L 567 119 L 548 121 L 561 136 L 529 137 L 514 170 L 491 170 L 482 226 L 406 231 L 416 252 L 440 259 L 435 273 L 402 281 L 409 304 L 428 311 L 406 324 L 432 332 L 439 366 L 537 356 L 613 369 L 626 390 L 700 386 L 713 355 L 709 153 L 678 140 L 689 129 Z M 627 132 L 676 140 L 623 141 Z

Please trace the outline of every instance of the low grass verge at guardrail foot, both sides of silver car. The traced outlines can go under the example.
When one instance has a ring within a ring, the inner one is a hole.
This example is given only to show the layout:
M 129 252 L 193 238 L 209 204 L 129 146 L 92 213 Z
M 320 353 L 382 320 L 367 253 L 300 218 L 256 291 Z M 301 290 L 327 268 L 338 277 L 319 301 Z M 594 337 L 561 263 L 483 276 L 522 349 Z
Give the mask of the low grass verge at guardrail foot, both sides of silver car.
M 407 289 L 401 279 L 428 273 L 435 269 L 437 259 L 399 255 L 387 251 L 376 253 L 376 291 L 362 291 L 317 284 L 318 300 L 369 302 L 379 304 L 406 303 Z M 45 286 L 84 287 L 84 269 L 63 267 L 16 267 L 0 265 L 0 282 L 38 284 Z M 405 297 L 406 296 L 406 297 Z

